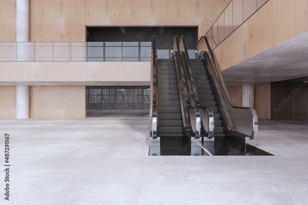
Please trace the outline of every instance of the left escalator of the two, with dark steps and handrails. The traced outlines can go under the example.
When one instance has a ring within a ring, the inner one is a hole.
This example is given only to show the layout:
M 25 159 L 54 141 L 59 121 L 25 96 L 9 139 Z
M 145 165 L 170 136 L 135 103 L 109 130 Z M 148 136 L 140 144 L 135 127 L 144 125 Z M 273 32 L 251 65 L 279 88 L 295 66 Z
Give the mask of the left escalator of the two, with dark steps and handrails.
M 209 124 L 213 124 L 213 120 L 209 120 L 213 118 L 211 108 L 196 107 L 189 95 L 177 37 L 172 45 L 175 48 L 172 59 L 158 60 L 155 42 L 153 37 L 150 148 L 155 154 L 161 154 L 162 149 L 173 149 L 176 153 L 187 147 L 185 155 L 208 155 L 201 146 L 203 136 L 209 140 L 213 136 L 213 131 L 209 132 Z

